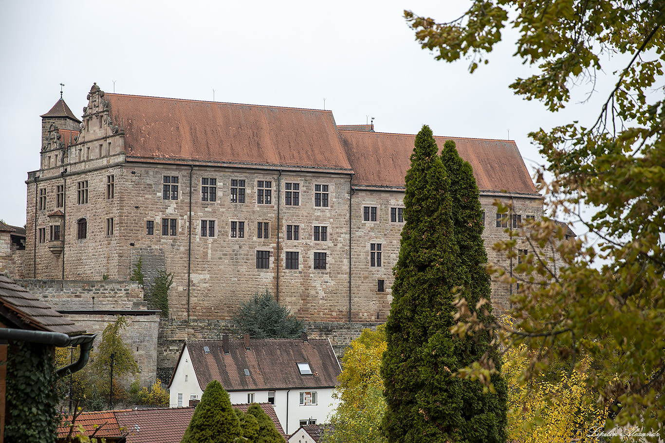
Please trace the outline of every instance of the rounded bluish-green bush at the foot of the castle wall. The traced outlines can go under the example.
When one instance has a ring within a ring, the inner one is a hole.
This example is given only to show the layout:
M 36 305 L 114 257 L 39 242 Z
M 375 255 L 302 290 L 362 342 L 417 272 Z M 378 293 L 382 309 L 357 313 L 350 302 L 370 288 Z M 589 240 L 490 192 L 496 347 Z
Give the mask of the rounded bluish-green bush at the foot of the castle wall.
M 233 323 L 241 333 L 257 339 L 299 338 L 305 332 L 305 323 L 293 317 L 291 310 L 279 304 L 268 290 L 241 305 L 233 314 Z

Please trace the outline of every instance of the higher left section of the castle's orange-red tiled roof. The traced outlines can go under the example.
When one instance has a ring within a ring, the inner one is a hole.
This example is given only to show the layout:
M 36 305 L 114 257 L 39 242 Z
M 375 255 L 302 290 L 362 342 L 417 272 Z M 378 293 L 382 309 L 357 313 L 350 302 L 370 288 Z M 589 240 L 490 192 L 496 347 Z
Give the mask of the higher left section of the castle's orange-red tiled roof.
M 332 112 L 106 94 L 128 160 L 215 161 L 348 171 Z

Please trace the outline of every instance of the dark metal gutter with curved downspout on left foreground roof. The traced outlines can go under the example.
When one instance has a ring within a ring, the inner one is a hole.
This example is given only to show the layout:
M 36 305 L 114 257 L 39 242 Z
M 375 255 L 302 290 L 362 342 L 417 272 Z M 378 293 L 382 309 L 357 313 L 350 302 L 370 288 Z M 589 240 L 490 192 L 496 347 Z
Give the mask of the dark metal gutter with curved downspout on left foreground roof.
M 80 371 L 88 363 L 90 358 L 90 349 L 97 334 L 69 335 L 61 332 L 48 331 L 28 331 L 26 329 L 13 329 L 11 327 L 0 328 L 0 339 L 11 341 L 27 341 L 29 343 L 39 343 L 41 345 L 54 345 L 57 347 L 80 346 L 80 356 L 78 361 L 67 365 L 56 371 L 58 378 L 65 377 Z

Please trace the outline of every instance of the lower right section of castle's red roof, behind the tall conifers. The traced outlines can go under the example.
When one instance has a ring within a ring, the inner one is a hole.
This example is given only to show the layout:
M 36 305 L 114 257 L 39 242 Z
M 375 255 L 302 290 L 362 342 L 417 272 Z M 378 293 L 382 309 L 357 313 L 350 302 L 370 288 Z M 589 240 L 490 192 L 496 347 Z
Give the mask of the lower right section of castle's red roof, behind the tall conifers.
M 340 130 L 342 144 L 355 173 L 354 186 L 404 187 L 416 135 Z M 515 141 L 436 136 L 441 149 L 447 140 L 473 167 L 480 191 L 537 194 Z

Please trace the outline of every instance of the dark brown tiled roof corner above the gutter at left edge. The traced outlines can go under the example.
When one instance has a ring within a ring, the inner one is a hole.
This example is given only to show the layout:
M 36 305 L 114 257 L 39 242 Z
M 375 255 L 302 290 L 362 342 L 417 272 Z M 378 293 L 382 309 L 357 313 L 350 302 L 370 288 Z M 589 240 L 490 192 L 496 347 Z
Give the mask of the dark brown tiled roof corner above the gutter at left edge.
M 0 319 L 8 327 L 78 335 L 85 330 L 0 274 Z

